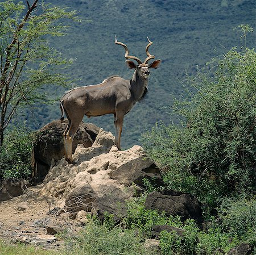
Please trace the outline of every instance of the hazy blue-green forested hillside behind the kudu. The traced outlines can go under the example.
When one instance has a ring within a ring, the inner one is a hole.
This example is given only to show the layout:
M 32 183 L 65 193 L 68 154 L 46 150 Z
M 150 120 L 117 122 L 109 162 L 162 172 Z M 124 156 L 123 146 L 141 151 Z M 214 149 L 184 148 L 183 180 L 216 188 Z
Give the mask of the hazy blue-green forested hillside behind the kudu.
M 66 71 L 77 79 L 73 86 L 97 84 L 114 74 L 127 79 L 132 76 L 133 72 L 124 62 L 123 48 L 114 44 L 114 34 L 127 44 L 132 55 L 143 59 L 146 36 L 154 42 L 150 52 L 162 60 L 162 65 L 151 72 L 147 98 L 125 116 L 123 148 L 139 144 L 140 134 L 155 122 L 168 123 L 170 115 L 162 107 L 172 104 L 171 94 L 181 93 L 180 81 L 184 80 L 185 73 L 195 73 L 197 66 L 203 66 L 211 57 L 235 45 L 241 47 L 240 34 L 233 28 L 241 23 L 255 24 L 253 0 L 45 2 L 77 10 L 82 19 L 81 23 L 68 23 L 68 34 L 51 42 L 63 56 L 76 59 L 72 69 Z M 247 46 L 255 46 L 255 32 L 250 35 Z M 46 90 L 59 98 L 65 91 L 60 87 Z M 30 110 L 24 111 L 19 120 L 27 119 L 32 129 L 60 117 L 58 102 L 40 106 L 33 110 L 34 114 Z M 88 121 L 114 133 L 113 116 L 85 119 Z

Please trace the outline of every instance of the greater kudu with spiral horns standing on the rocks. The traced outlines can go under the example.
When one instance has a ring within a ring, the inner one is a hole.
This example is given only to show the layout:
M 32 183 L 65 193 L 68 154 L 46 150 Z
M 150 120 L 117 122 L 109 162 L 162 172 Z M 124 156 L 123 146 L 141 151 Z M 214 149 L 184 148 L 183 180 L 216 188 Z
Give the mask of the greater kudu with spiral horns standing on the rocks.
M 155 60 L 151 64 L 148 64 L 148 61 L 155 58 L 155 56 L 148 52 L 152 41 L 148 37 L 147 40 L 147 58 L 142 62 L 138 57 L 130 56 L 127 46 L 117 41 L 115 37 L 115 44 L 122 45 L 125 48 L 126 64 L 130 69 L 135 69 L 133 78 L 130 81 L 119 76 L 112 76 L 97 85 L 72 89 L 61 98 L 60 108 L 62 115 L 60 120 L 64 119 L 64 112 L 68 118 L 68 125 L 63 136 L 65 158 L 69 163 L 72 162 L 73 137 L 84 115 L 90 118 L 90 116 L 114 114 L 115 144 L 118 149 L 121 149 L 120 137 L 123 117 L 131 110 L 135 103 L 147 94 L 147 79 L 150 75 L 149 69 L 158 68 L 161 62 L 161 60 Z M 135 60 L 138 64 L 128 59 Z

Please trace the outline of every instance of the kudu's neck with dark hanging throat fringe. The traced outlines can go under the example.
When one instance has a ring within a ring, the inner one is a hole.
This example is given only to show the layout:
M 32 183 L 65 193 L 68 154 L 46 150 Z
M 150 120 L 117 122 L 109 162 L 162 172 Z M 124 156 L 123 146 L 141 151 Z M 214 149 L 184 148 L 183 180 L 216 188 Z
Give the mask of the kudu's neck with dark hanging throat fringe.
M 134 101 L 139 101 L 142 99 L 145 91 L 147 91 L 148 80 L 139 76 L 137 70 L 133 74 L 133 78 L 130 81 L 131 90 L 133 92 Z

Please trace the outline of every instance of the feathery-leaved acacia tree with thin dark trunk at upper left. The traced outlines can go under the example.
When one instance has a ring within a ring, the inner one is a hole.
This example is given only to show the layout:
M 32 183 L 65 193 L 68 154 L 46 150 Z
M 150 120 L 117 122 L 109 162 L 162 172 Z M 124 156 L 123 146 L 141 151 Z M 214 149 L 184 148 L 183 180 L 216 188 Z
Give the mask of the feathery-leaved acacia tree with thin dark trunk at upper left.
M 51 48 L 48 38 L 63 36 L 67 26 L 61 20 L 76 19 L 75 15 L 38 0 L 32 5 L 14 0 L 0 3 L 0 146 L 20 106 L 46 102 L 46 93 L 39 93 L 44 85 L 67 85 L 61 69 L 72 60 Z

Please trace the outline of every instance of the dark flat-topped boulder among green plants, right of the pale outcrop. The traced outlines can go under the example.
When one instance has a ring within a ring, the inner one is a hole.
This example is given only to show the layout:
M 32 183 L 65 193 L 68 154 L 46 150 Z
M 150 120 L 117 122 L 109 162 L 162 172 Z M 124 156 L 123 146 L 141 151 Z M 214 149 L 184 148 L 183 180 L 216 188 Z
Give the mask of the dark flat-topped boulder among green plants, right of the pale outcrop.
M 193 195 L 177 191 L 152 192 L 145 201 L 147 209 L 165 211 L 168 215 L 179 215 L 181 220 L 194 219 L 203 223 L 201 204 Z

